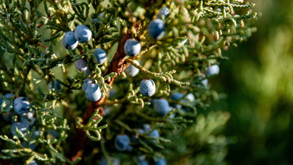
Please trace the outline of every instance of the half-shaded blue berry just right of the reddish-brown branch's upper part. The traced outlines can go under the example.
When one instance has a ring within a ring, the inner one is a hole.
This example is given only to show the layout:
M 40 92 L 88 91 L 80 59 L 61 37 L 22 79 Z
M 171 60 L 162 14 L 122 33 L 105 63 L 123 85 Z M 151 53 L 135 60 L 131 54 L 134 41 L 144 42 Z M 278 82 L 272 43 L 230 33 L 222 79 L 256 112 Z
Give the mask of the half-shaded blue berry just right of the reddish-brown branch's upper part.
M 141 50 L 140 43 L 136 39 L 128 39 L 124 44 L 124 53 L 129 56 L 137 56 Z

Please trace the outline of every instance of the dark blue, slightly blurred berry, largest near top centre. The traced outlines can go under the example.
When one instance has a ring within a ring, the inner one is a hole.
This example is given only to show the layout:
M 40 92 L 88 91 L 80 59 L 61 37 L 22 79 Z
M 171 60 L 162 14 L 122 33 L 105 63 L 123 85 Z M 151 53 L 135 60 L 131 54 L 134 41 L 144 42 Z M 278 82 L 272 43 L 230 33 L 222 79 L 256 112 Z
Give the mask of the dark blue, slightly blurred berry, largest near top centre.
M 162 21 L 161 19 L 153 19 L 149 22 L 147 32 L 149 33 L 149 36 L 159 40 L 165 34 L 164 28 L 165 28 L 164 21 Z

